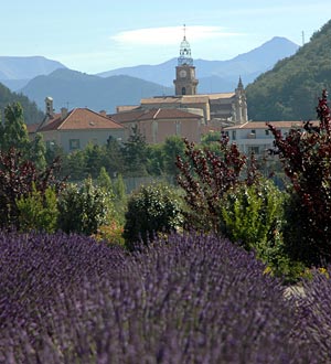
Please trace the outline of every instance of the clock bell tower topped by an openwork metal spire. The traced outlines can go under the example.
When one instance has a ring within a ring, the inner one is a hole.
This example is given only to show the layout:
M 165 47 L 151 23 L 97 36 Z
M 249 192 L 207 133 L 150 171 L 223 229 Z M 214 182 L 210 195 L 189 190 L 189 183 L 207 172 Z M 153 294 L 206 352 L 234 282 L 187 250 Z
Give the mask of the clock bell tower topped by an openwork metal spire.
M 196 95 L 199 81 L 195 78 L 195 67 L 191 56 L 190 43 L 186 41 L 185 25 L 184 38 L 180 45 L 180 56 L 175 67 L 175 79 L 173 81 L 175 95 Z

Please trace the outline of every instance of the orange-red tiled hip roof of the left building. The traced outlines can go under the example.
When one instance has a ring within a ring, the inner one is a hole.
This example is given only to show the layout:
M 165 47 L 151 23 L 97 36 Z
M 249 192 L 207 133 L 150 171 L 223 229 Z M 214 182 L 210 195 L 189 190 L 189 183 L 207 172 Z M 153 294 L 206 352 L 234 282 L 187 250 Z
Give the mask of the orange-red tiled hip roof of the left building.
M 122 126 L 107 116 L 95 113 L 88 108 L 75 108 L 65 117 L 63 117 L 61 114 L 54 114 L 52 119 L 42 125 L 38 131 L 122 128 Z

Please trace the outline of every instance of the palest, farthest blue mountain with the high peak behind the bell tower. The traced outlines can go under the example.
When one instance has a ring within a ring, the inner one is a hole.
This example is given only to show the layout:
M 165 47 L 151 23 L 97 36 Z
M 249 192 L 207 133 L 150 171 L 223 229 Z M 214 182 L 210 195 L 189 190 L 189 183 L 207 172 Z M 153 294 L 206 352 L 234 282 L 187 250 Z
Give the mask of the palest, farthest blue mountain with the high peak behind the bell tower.
M 296 53 L 298 49 L 299 46 L 291 41 L 275 36 L 259 47 L 228 61 L 194 60 L 196 76 L 200 81 L 199 93 L 232 90 L 236 87 L 239 76 L 245 84 L 249 84 L 263 72 L 270 69 L 279 60 Z M 172 87 L 177 62 L 177 58 L 172 58 L 158 65 L 116 68 L 99 73 L 98 76 L 128 75 Z

